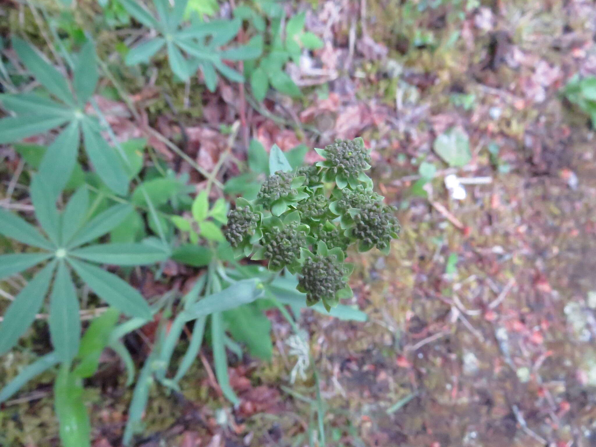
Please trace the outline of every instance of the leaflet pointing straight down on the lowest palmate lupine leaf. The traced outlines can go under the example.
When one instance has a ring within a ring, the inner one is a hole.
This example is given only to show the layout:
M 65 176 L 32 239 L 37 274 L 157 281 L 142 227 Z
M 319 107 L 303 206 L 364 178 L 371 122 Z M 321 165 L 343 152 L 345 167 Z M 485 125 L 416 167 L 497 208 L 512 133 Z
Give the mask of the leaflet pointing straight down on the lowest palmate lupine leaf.
M 49 334 L 58 358 L 69 363 L 79 350 L 79 299 L 64 262 L 58 264 L 49 301 Z

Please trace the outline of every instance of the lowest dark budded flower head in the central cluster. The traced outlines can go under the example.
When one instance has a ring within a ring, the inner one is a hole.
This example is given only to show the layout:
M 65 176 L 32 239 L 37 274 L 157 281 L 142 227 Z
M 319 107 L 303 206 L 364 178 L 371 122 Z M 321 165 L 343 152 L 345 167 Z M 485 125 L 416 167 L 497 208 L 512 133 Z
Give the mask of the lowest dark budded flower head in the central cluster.
M 306 290 L 306 302 L 313 305 L 322 299 L 334 297 L 346 287 L 344 266 L 334 256 L 307 258 L 302 266 L 300 287 Z

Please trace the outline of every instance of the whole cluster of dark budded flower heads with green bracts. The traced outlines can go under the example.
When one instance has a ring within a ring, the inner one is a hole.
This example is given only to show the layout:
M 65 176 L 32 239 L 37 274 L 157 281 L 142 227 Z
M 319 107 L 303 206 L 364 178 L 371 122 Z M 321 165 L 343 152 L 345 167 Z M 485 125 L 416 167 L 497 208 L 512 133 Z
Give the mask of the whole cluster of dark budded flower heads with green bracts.
M 329 311 L 352 296 L 349 246 L 389 253 L 398 237 L 395 208 L 383 203 L 366 175 L 370 155 L 362 138 L 336 139 L 315 149 L 324 161 L 269 176 L 252 202 L 238 198 L 228 213 L 226 239 L 241 256 L 268 260 L 269 270 L 299 276 L 306 303 Z

